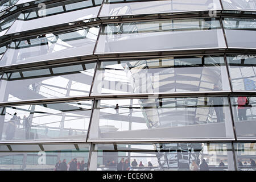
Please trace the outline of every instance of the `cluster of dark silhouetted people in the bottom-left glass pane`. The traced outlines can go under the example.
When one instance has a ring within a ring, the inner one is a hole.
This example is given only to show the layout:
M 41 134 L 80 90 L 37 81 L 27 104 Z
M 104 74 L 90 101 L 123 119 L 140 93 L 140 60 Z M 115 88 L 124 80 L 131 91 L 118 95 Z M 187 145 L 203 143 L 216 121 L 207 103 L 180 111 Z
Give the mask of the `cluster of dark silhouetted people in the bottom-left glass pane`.
M 85 171 L 87 167 L 84 160 L 78 162 L 77 159 L 74 158 L 67 163 L 67 159 L 63 159 L 62 162 L 59 160 L 59 162 L 55 164 L 55 171 Z

